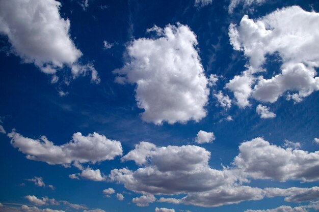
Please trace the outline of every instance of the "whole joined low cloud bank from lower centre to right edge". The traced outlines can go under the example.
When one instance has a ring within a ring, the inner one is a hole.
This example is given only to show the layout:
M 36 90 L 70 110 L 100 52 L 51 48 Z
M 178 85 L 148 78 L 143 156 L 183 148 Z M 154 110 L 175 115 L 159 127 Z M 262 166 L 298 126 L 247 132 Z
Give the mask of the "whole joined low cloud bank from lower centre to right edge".
M 231 167 L 217 170 L 209 167 L 210 153 L 202 147 L 157 147 L 141 142 L 121 159 L 122 162 L 135 161 L 141 167 L 135 171 L 113 169 L 108 178 L 123 184 L 128 190 L 142 193 L 143 196 L 133 200 L 139 206 L 154 202 L 153 195 L 187 194 L 180 199 L 161 197 L 157 201 L 204 207 L 274 196 L 284 196 L 288 202 L 319 198 L 317 187 L 280 190 L 242 185 L 249 183 L 250 179 L 318 180 L 319 152 L 283 148 L 262 138 L 243 142 L 239 150 Z

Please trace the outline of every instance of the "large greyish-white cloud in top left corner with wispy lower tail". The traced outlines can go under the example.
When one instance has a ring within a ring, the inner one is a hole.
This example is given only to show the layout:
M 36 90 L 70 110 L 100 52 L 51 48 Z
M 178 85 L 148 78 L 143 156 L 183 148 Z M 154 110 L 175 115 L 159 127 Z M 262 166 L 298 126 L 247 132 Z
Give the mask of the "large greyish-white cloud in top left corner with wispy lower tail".
M 60 7 L 55 0 L 1 1 L 0 33 L 8 37 L 14 54 L 46 74 L 55 74 L 66 65 L 74 77 L 91 72 L 92 80 L 99 82 L 94 67 L 73 72 L 73 66 L 82 66 L 78 62 L 82 52 L 70 38 L 70 21 L 60 17 Z

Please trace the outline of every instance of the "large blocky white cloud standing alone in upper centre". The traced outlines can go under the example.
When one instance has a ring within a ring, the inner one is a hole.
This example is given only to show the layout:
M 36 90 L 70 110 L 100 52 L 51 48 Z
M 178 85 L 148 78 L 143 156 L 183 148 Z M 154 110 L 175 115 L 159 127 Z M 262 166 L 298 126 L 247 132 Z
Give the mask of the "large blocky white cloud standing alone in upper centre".
M 137 105 L 142 119 L 157 125 L 206 116 L 208 80 L 196 45 L 196 35 L 187 25 L 154 26 L 154 38 L 140 38 L 127 46 L 128 62 L 114 70 L 116 82 L 136 83 Z

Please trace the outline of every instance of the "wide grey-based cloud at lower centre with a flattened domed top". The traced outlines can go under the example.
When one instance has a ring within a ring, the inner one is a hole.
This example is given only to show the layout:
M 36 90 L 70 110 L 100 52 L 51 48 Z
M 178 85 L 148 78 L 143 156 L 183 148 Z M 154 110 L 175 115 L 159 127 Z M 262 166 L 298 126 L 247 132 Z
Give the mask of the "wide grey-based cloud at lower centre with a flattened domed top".
M 228 184 L 234 176 L 229 171 L 211 169 L 208 165 L 210 153 L 199 146 L 167 146 L 147 149 L 152 146 L 143 142 L 124 156 L 125 161 L 134 160 L 142 167 L 136 171 L 127 168 L 113 169 L 111 181 L 124 184 L 125 188 L 138 193 L 178 194 L 208 191 Z M 141 153 L 140 157 L 136 157 Z M 143 160 L 142 160 L 143 158 Z

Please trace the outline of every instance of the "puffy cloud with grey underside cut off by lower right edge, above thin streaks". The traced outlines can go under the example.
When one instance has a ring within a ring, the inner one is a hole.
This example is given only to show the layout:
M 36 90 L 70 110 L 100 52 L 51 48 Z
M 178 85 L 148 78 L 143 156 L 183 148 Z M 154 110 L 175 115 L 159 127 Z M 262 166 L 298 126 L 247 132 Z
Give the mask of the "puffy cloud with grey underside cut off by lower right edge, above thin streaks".
M 239 149 L 234 165 L 247 176 L 279 181 L 319 179 L 319 151 L 308 153 L 300 149 L 285 149 L 262 138 L 244 142 Z

